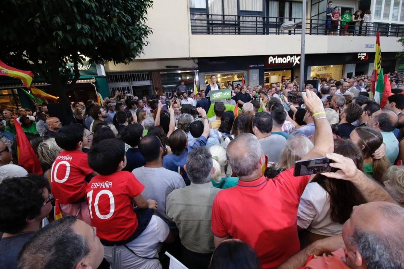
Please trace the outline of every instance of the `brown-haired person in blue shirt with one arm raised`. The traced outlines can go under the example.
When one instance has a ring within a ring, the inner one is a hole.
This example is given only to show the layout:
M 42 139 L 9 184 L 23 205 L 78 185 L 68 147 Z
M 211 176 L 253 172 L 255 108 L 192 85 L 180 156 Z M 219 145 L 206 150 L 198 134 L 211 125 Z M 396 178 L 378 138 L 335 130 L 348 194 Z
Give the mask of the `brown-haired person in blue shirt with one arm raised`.
M 187 134 L 181 130 L 175 130 L 171 136 L 168 138 L 168 144 L 171 147 L 172 154 L 168 154 L 163 158 L 163 167 L 178 172 L 182 175 L 185 185 L 189 185 L 191 182 L 188 179 L 187 173 L 184 170 L 185 162 L 187 161 L 188 153 L 200 146 L 205 146 L 208 142 L 209 136 L 209 122 L 206 117 L 206 111 L 203 108 L 197 108 L 199 115 L 203 118 L 203 133 L 200 138 L 198 138 L 193 145 L 189 146 L 187 143 Z

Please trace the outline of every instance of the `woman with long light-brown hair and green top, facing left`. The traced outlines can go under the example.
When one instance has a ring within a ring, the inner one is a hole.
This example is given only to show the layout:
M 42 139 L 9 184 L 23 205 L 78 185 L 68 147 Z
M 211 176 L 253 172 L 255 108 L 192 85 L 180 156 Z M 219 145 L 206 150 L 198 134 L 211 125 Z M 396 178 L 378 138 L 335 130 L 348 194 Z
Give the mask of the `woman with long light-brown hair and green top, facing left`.
M 351 141 L 356 144 L 363 153 L 364 172 L 383 185 L 390 161 L 386 156 L 381 159 L 373 158 L 373 153 L 383 143 L 383 136 L 376 129 L 360 126 L 349 135 Z

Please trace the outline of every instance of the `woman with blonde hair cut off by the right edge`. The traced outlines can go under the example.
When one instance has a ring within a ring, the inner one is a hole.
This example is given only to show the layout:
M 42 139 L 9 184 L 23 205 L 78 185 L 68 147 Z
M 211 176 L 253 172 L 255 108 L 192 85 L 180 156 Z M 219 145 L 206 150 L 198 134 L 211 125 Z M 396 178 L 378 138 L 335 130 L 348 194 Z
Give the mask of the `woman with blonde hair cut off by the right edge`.
M 386 191 L 396 202 L 404 206 L 404 166 L 390 166 L 386 179 L 383 182 Z

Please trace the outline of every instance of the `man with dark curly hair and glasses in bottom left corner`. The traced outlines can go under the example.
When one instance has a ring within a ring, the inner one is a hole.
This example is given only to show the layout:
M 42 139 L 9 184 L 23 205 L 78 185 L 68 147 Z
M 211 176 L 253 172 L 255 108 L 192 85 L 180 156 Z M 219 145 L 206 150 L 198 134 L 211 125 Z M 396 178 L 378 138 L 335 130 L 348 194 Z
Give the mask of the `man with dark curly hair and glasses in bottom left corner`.
M 3 153 L 2 153 L 3 154 Z M 17 268 L 17 256 L 52 210 L 53 195 L 44 177 L 7 178 L 0 184 L 0 264 Z

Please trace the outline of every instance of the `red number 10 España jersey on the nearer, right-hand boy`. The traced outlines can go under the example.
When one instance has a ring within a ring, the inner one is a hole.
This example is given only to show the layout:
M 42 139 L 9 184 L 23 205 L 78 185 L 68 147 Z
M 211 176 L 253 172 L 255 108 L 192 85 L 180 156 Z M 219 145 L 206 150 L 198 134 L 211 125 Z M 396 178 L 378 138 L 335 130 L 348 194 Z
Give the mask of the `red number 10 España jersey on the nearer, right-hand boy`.
M 87 186 L 91 224 L 103 240 L 128 239 L 137 228 L 137 217 L 131 201 L 145 187 L 128 171 L 97 175 Z

